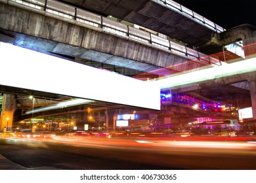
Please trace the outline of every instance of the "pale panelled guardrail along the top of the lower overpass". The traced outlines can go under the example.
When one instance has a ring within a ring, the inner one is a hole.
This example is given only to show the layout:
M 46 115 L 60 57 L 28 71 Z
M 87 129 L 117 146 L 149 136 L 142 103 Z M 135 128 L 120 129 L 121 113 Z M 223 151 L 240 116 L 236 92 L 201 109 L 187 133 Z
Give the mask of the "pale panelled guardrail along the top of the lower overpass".
M 141 29 L 137 29 L 135 27 L 131 27 L 129 25 L 121 24 L 120 22 L 116 22 L 109 18 L 100 16 L 98 14 L 89 12 L 87 10 L 83 10 L 81 8 L 73 7 L 66 3 L 62 3 L 60 1 L 54 0 L 5 0 L 8 4 L 9 1 L 20 3 L 25 5 L 26 7 L 35 8 L 38 10 L 44 10 L 45 12 L 50 12 L 52 14 L 56 14 L 58 16 L 62 16 L 64 18 L 75 20 L 77 22 L 81 22 L 82 24 L 88 24 L 94 27 L 98 27 L 103 29 L 106 32 L 114 33 L 121 37 L 128 37 L 129 39 L 136 39 L 139 42 L 146 42 L 148 44 L 152 44 L 158 48 L 163 50 L 169 50 L 173 54 L 177 54 L 179 56 L 186 56 L 190 59 L 195 59 L 200 61 L 203 64 L 214 64 L 221 65 L 221 61 L 219 59 L 213 58 L 211 56 L 207 56 L 201 52 L 193 50 L 187 46 L 179 44 L 174 41 L 170 41 L 168 39 L 163 39 L 158 35 L 154 35 L 149 33 L 148 31 L 144 31 Z M 158 0 L 160 1 L 160 0 Z M 167 1 L 165 1 L 166 3 Z M 174 2 L 174 1 L 168 1 Z M 177 3 L 172 4 L 173 7 L 177 8 Z M 179 7 L 179 6 L 178 6 Z M 184 7 L 180 5 L 181 9 L 184 10 Z M 189 13 L 188 10 L 186 10 Z M 195 15 L 195 13 L 193 12 Z

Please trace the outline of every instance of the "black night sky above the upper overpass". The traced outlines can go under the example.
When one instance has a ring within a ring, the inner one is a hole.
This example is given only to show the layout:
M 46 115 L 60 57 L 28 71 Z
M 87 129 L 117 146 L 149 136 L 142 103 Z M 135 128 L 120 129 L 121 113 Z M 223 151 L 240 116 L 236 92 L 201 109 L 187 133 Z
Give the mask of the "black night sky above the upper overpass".
M 255 0 L 174 0 L 184 7 L 197 12 L 224 29 L 237 25 L 252 24 L 256 26 Z

